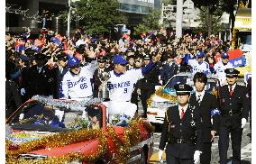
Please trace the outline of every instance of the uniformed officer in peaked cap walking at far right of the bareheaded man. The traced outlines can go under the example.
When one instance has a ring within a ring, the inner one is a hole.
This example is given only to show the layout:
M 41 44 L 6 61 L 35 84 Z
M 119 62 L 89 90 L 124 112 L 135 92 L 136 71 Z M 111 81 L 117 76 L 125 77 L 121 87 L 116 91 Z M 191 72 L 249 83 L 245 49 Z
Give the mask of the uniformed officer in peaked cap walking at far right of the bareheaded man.
M 219 156 L 220 164 L 227 163 L 229 133 L 231 133 L 233 164 L 241 163 L 242 128 L 248 118 L 245 87 L 239 86 L 237 77 L 240 72 L 234 68 L 225 69 L 227 84 L 220 88 L 220 127 Z

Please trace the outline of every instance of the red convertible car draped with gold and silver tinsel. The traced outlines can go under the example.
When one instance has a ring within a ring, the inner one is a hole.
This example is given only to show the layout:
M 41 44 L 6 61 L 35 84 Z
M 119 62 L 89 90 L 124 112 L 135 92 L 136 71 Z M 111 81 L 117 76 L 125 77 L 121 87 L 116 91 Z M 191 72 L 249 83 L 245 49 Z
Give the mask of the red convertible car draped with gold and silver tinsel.
M 6 163 L 145 163 L 151 124 L 102 103 L 33 96 L 6 121 Z

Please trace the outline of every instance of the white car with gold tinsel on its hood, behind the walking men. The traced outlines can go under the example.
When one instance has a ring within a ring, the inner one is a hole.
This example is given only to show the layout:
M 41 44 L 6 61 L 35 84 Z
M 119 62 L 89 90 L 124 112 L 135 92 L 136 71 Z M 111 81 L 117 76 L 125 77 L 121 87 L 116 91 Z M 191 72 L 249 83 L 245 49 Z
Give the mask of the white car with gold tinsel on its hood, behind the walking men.
M 165 113 L 168 107 L 178 105 L 176 91 L 174 86 L 178 83 L 186 83 L 194 88 L 192 74 L 189 72 L 180 72 L 170 77 L 165 86 L 156 87 L 155 93 L 147 100 L 148 111 L 147 118 L 151 123 L 161 124 L 164 121 Z M 220 81 L 215 75 L 210 75 L 206 84 L 206 92 L 217 96 Z

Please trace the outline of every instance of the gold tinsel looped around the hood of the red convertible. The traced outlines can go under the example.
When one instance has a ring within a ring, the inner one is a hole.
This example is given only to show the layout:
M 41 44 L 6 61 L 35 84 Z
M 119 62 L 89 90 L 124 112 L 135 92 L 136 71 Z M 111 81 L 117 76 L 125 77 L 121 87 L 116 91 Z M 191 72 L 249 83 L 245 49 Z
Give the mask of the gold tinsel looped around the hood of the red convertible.
M 43 148 L 55 148 L 80 141 L 87 141 L 91 139 L 99 139 L 98 150 L 96 153 L 85 156 L 81 153 L 69 153 L 65 156 L 52 157 L 49 159 L 18 159 L 19 154 L 28 153 L 32 150 L 40 150 Z M 41 138 L 40 140 L 28 141 L 18 146 L 17 150 L 8 150 L 10 141 L 6 141 L 6 163 L 65 163 L 73 160 L 78 161 L 92 161 L 102 157 L 106 150 L 106 138 L 102 130 L 78 130 L 73 132 L 60 132 L 52 136 Z

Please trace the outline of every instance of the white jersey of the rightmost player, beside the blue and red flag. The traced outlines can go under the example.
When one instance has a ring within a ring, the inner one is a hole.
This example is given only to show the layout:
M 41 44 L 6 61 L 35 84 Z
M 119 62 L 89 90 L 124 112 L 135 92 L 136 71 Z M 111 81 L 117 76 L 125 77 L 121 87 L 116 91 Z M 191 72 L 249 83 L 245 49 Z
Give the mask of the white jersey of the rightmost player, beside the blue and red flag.
M 224 81 L 226 80 L 224 70 L 226 68 L 233 68 L 233 64 L 228 62 L 226 65 L 224 65 L 224 63 L 220 60 L 215 64 L 214 68 L 216 76 L 219 78 L 221 84 L 224 84 Z

